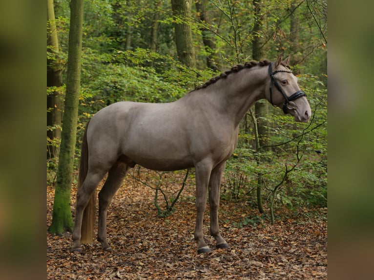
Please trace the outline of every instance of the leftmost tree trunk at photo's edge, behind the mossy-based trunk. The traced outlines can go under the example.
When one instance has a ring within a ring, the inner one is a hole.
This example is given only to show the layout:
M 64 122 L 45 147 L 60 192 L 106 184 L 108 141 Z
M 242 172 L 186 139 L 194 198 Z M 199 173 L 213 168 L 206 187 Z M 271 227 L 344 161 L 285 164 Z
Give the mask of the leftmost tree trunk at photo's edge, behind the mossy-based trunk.
M 59 154 L 58 141 L 61 140 L 61 111 L 62 101 L 60 98 L 62 78 L 61 65 L 56 61 L 59 53 L 59 40 L 55 23 L 55 12 L 53 0 L 47 0 L 47 51 L 55 59 L 47 59 L 47 87 L 56 87 L 47 96 L 47 158 L 55 158 Z

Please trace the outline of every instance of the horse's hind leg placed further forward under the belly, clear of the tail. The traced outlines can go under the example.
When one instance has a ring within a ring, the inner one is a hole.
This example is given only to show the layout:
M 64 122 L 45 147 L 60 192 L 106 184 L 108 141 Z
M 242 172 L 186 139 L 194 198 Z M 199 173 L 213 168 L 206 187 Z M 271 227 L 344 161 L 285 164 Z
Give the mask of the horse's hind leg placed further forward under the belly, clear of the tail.
M 106 213 L 114 194 L 121 187 L 128 170 L 128 165 L 117 161 L 108 172 L 103 188 L 99 192 L 99 228 L 97 240 L 102 244 L 104 251 L 112 251 L 106 240 Z

